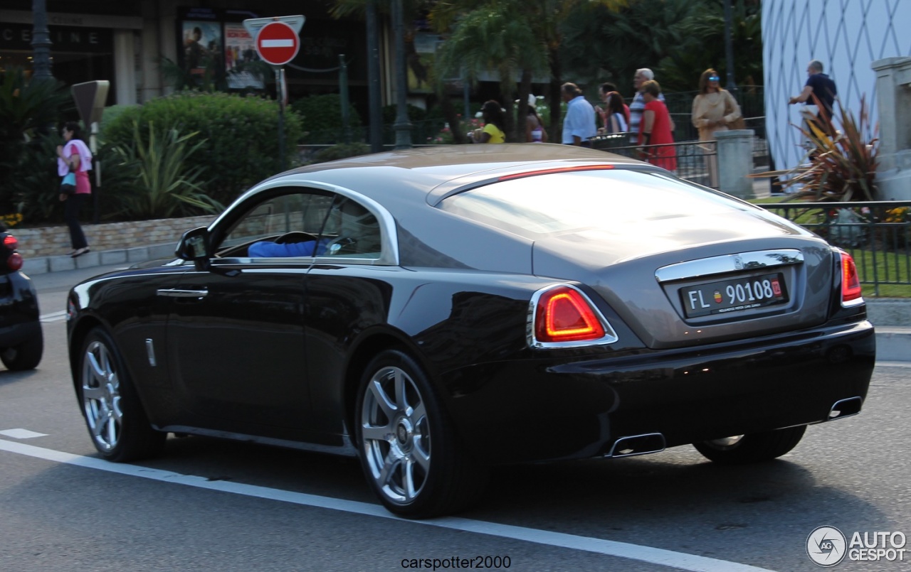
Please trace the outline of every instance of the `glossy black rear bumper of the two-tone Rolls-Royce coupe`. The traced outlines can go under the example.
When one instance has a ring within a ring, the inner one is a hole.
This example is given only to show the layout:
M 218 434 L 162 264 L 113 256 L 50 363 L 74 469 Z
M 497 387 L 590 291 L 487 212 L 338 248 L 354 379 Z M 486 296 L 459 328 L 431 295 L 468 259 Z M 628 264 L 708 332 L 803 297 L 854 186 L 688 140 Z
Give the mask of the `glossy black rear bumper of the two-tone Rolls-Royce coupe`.
M 445 384 L 458 387 L 467 446 L 502 464 L 609 455 L 624 437 L 674 447 L 823 422 L 836 402 L 865 398 L 874 366 L 864 321 L 698 351 L 471 366 Z

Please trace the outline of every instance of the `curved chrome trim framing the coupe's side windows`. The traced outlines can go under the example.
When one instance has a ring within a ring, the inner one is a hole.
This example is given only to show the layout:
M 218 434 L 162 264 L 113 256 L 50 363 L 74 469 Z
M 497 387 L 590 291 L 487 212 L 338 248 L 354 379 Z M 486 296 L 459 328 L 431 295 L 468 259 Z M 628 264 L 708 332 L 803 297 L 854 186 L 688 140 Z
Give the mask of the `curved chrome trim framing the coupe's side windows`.
M 262 191 L 267 191 L 273 188 L 281 187 L 300 187 L 302 190 L 306 188 L 315 188 L 322 191 L 329 191 L 337 195 L 345 196 L 360 203 L 364 208 L 366 208 L 370 213 L 376 217 L 377 222 L 380 224 L 380 245 L 381 252 L 379 258 L 358 258 L 356 256 L 301 256 L 301 257 L 281 257 L 281 258 L 235 258 L 236 260 L 242 260 L 244 262 L 250 261 L 250 263 L 256 264 L 275 264 L 277 261 L 299 261 L 300 263 L 314 264 L 314 263 L 325 263 L 325 264 L 356 264 L 356 265 L 369 265 L 369 266 L 398 266 L 399 265 L 399 249 L 398 249 L 398 231 L 395 226 L 395 219 L 392 214 L 386 210 L 386 208 L 374 199 L 369 196 L 364 196 L 357 191 L 354 191 L 350 188 L 338 185 L 331 185 L 328 183 L 322 183 L 320 181 L 312 181 L 307 178 L 302 178 L 299 175 L 289 175 L 282 176 L 278 179 L 272 179 L 267 181 L 259 186 L 254 186 L 251 190 L 244 193 L 241 198 L 239 198 L 235 203 L 240 203 L 241 201 L 247 200 L 251 196 L 258 195 Z M 221 221 L 225 218 L 227 212 L 230 208 L 226 209 L 221 215 L 215 219 L 209 227 L 213 228 L 218 226 Z M 262 262 L 260 262 L 262 261 Z

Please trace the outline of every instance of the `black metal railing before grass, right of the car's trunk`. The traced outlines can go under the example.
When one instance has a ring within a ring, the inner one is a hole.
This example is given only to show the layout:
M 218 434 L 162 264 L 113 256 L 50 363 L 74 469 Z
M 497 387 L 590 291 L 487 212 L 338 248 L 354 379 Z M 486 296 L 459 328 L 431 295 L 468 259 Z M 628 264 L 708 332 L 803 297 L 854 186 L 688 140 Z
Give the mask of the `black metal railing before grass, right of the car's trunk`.
M 855 259 L 861 284 L 911 286 L 911 201 L 759 205 L 823 236 Z

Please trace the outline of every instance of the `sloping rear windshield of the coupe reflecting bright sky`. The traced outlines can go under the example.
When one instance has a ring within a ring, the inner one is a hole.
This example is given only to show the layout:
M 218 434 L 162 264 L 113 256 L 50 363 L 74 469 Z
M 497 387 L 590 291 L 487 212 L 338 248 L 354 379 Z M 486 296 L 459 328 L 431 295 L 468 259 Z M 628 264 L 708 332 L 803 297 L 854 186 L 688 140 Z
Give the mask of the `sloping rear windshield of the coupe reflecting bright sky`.
M 617 169 L 508 179 L 446 197 L 440 208 L 534 238 L 750 207 L 670 176 Z

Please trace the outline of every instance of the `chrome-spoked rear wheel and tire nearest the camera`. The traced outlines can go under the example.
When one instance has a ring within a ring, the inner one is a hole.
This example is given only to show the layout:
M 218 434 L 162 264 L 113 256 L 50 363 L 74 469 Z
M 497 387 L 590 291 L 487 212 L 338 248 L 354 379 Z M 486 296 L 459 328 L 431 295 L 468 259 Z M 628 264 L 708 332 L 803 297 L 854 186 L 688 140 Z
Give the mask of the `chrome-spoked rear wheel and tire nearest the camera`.
M 390 512 L 436 517 L 464 509 L 481 496 L 486 470 L 466 455 L 412 357 L 397 350 L 374 357 L 364 370 L 356 403 L 363 473 Z

